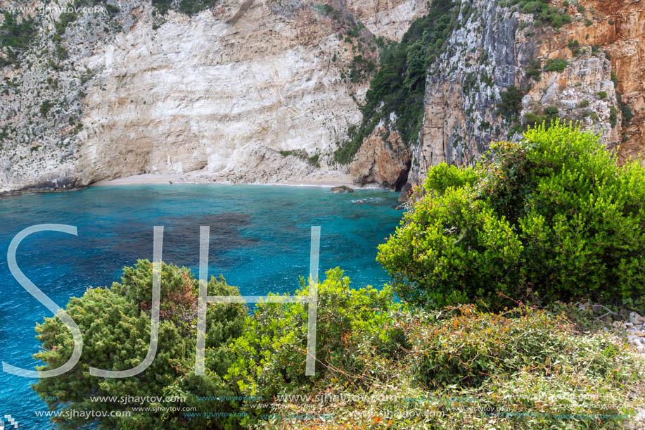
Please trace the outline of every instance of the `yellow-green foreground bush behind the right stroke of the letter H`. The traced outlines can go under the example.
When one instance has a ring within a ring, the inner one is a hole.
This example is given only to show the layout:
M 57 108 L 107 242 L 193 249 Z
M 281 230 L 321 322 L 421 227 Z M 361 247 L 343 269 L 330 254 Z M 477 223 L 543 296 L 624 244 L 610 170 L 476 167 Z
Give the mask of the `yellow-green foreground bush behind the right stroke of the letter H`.
M 304 279 L 296 294 L 308 295 Z M 390 288 L 350 289 L 350 279 L 337 267 L 326 272 L 318 295 L 316 377 L 305 376 L 307 308 L 267 303 L 257 305 L 243 336 L 234 341 L 237 359 L 226 380 L 244 396 L 275 398 L 308 392 L 321 380 L 329 382 L 336 377 L 333 369 L 361 374 L 371 367 L 369 354 L 374 350 L 390 362 L 400 356 L 400 330 L 384 327 L 392 312 L 402 308 L 394 302 Z M 252 415 L 254 411 L 245 412 Z M 243 424 L 255 423 L 250 419 Z

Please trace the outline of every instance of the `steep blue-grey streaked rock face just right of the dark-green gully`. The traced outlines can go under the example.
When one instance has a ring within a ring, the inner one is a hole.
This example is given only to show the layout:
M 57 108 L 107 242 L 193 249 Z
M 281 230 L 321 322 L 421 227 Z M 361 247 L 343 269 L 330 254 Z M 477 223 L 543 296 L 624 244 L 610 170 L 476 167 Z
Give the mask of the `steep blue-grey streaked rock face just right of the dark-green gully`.
M 497 1 L 462 3 L 459 26 L 426 80 L 425 114 L 413 151 L 411 184 L 438 163 L 473 163 L 509 124 L 497 112 L 500 93 L 528 82 L 524 69 L 537 56 L 535 41 L 516 37 L 532 17 Z

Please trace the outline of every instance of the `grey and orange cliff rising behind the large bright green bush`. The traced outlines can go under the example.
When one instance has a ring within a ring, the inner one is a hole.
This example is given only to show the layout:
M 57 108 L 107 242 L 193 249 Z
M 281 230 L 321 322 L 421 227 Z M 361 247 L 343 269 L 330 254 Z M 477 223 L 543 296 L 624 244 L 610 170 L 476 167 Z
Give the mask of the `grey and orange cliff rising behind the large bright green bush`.
M 410 183 L 423 182 L 428 168 L 438 163 L 472 163 L 490 141 L 521 139 L 521 129 L 532 118 L 581 122 L 606 146 L 620 144 L 620 156 L 642 154 L 641 1 L 621 7 L 570 2 L 566 11 L 572 23 L 559 30 L 501 3 L 461 2 L 460 20 L 466 23 L 452 33 L 441 61 L 428 72 Z M 466 5 L 478 12 L 471 13 Z M 525 94 L 515 124 L 499 110 L 502 93 L 511 85 Z M 625 108 L 634 115 L 630 123 L 623 121 Z

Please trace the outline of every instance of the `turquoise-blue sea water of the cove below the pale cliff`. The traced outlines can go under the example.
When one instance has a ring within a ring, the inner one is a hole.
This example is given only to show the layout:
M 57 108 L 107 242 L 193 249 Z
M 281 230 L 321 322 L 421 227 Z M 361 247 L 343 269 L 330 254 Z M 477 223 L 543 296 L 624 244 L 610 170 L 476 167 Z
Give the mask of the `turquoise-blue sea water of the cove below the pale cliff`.
M 309 272 L 312 225 L 321 226 L 320 277 L 340 266 L 355 288 L 388 282 L 376 263 L 376 246 L 394 231 L 402 213 L 396 194 L 360 190 L 212 184 L 116 186 L 0 200 L 0 360 L 34 369 L 39 343 L 34 325 L 49 310 L 8 270 L 13 236 L 44 223 L 73 225 L 78 236 L 39 232 L 18 248 L 25 275 L 60 306 L 87 286 L 120 280 L 122 267 L 152 260 L 153 226 L 164 226 L 163 260 L 197 274 L 199 227 L 210 226 L 209 274 L 223 274 L 243 295 L 293 292 Z M 32 392 L 34 379 L 0 372 L 0 417 L 24 429 L 49 429 L 34 411 L 46 405 Z

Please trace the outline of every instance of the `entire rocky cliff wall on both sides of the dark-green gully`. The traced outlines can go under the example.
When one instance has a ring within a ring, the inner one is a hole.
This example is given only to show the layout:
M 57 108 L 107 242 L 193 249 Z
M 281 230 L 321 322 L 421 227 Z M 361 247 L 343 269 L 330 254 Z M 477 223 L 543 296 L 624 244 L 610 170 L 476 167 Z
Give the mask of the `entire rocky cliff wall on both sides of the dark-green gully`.
M 65 0 L 30 2 L 15 15 L 36 18 L 32 42 L 0 50 L 0 192 L 143 173 L 351 175 L 399 189 L 545 118 L 582 122 L 623 158 L 643 153 L 642 0 L 554 1 L 572 17 L 558 30 L 512 3 L 456 2 L 456 24 L 434 39 L 418 139 L 383 115 L 343 165 L 333 153 L 363 119 L 377 39 L 402 40 L 427 2 L 231 0 L 192 16 L 140 0 L 87 0 L 100 7 L 72 13 L 54 7 Z M 509 113 L 513 88 L 522 97 Z

